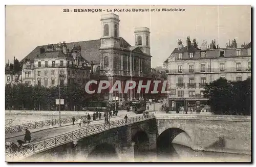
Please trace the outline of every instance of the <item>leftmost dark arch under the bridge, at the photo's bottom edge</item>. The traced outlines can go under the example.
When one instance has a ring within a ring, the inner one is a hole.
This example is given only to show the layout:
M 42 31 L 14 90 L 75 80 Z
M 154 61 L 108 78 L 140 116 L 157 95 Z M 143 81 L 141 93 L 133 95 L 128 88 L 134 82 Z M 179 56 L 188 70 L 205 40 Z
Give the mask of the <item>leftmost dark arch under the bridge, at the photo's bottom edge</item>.
M 119 157 L 116 147 L 108 143 L 96 145 L 87 157 L 87 160 L 89 161 L 116 161 L 118 159 Z

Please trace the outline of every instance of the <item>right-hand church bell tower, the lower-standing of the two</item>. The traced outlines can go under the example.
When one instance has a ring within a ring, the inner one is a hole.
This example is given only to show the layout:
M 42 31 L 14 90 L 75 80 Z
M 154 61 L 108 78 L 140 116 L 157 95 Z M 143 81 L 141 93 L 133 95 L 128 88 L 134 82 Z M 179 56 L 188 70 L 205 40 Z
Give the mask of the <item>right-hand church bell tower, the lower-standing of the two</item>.
M 141 50 L 150 55 L 150 29 L 148 27 L 137 27 L 134 31 L 135 45 Z

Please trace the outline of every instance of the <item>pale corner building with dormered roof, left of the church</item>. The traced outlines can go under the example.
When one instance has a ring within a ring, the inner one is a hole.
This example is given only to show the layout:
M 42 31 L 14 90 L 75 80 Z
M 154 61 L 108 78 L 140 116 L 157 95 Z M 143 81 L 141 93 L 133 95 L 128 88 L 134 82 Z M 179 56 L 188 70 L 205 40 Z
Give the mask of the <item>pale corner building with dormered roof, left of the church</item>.
M 40 48 L 33 63 L 23 65 L 23 82 L 27 86 L 85 85 L 90 79 L 90 64 L 80 54 L 80 46 L 69 49 L 65 42 Z

